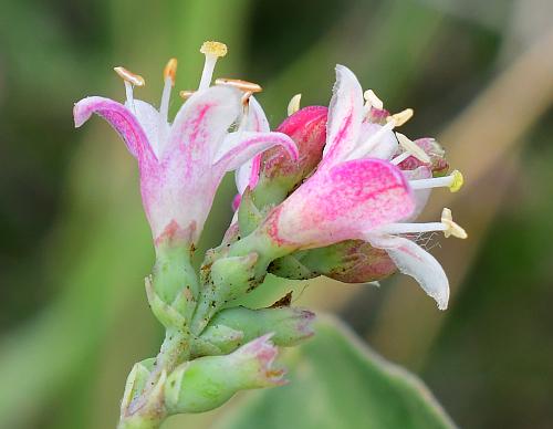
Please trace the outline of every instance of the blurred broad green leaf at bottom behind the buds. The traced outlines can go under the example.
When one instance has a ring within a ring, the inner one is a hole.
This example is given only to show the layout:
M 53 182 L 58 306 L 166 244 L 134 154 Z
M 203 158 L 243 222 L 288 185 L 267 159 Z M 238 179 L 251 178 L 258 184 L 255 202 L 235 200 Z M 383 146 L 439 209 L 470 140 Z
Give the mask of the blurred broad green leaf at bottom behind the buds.
M 414 375 L 384 360 L 334 320 L 288 355 L 290 384 L 249 396 L 217 429 L 453 428 Z

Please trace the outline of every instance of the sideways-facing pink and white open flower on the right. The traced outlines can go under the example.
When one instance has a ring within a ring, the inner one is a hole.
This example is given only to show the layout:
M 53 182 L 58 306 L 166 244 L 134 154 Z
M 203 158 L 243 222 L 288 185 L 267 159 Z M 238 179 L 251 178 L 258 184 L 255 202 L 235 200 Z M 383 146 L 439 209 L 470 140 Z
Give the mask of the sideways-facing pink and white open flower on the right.
M 364 240 L 383 249 L 399 271 L 415 278 L 440 310 L 447 307 L 449 283 L 441 265 L 409 238 L 442 231 L 466 238 L 445 209 L 441 222 L 411 223 L 434 187 L 457 190 L 458 171 L 432 178 L 431 160 L 416 144 L 393 129 L 413 112 L 388 116 L 385 125 L 372 121 L 382 112 L 374 93 L 364 104 L 363 90 L 345 66 L 330 105 L 326 146 L 315 174 L 268 216 L 262 229 L 279 247 L 291 250 L 321 248 L 344 240 Z M 399 153 L 399 155 L 398 155 Z M 418 158 L 418 167 L 398 165 Z M 409 237 L 409 238 L 407 238 Z

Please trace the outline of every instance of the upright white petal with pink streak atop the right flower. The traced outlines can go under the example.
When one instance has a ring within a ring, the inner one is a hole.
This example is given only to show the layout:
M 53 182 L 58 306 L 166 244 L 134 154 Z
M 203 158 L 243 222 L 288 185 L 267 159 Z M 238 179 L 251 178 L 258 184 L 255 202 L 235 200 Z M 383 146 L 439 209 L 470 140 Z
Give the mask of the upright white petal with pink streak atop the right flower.
M 363 90 L 357 77 L 344 65 L 336 65 L 336 83 L 328 107 L 326 146 L 321 167 L 344 160 L 355 147 L 363 119 Z

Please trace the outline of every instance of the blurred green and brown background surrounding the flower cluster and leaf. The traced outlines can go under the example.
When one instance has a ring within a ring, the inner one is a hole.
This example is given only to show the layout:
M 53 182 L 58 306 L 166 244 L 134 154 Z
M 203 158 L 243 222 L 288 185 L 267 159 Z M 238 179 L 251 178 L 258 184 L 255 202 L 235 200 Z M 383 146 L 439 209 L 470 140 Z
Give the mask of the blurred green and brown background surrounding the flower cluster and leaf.
M 462 192 L 435 192 L 424 214 L 448 205 L 469 231 L 432 244 L 447 312 L 400 276 L 380 289 L 311 281 L 296 304 L 340 315 L 414 370 L 460 427 L 553 427 L 551 17 L 550 0 L 3 0 L 0 427 L 113 427 L 132 364 L 157 352 L 135 161 L 101 121 L 75 130 L 71 109 L 123 98 L 114 65 L 144 75 L 137 96 L 156 101 L 177 56 L 177 87 L 195 87 L 210 39 L 229 45 L 216 76 L 260 83 L 271 125 L 295 93 L 327 104 L 343 63 L 389 109 L 414 107 L 405 132 L 438 136 L 466 174 Z M 231 196 L 228 179 L 204 247 Z M 167 427 L 208 428 L 234 406 Z

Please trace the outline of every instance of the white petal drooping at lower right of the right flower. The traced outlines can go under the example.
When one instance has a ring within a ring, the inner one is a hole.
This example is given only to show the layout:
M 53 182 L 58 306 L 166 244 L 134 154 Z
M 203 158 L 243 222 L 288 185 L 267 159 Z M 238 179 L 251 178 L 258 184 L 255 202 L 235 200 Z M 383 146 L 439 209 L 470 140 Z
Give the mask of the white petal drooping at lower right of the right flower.
M 396 266 L 410 275 L 436 302 L 446 310 L 449 301 L 449 282 L 439 262 L 411 240 L 396 236 L 367 233 L 366 239 L 375 247 L 386 250 Z

